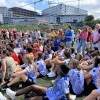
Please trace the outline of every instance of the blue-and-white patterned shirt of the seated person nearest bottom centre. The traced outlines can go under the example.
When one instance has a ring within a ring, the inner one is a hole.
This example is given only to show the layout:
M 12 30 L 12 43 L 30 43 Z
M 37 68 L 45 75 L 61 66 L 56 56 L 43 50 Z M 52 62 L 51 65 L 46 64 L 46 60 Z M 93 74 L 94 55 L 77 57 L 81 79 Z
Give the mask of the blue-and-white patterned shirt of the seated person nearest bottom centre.
M 55 81 L 53 87 L 46 91 L 49 100 L 59 100 L 63 95 L 69 93 L 69 78 L 62 77 Z

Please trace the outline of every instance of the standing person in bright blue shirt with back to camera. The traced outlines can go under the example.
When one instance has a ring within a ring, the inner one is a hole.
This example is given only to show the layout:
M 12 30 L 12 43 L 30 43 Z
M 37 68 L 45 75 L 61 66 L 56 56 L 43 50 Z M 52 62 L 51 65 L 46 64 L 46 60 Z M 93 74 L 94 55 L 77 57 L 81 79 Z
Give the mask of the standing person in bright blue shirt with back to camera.
M 72 31 L 72 27 L 69 25 L 68 30 L 65 33 L 65 40 L 66 40 L 66 47 L 67 48 L 71 47 L 72 38 L 73 38 L 73 31 Z

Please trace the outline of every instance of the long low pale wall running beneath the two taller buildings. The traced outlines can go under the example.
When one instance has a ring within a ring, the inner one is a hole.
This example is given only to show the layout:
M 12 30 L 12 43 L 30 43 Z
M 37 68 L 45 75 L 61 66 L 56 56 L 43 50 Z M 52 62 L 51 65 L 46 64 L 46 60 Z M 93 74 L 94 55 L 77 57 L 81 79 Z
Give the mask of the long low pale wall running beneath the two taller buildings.
M 10 19 L 10 23 L 16 24 L 16 25 L 32 25 L 32 24 L 38 24 L 36 21 L 38 20 L 46 20 L 48 23 L 57 23 L 57 17 L 58 16 L 37 16 L 37 17 L 29 17 L 29 18 L 12 18 Z M 60 17 L 60 23 L 72 23 L 74 21 L 80 22 L 84 21 L 85 15 L 78 16 L 78 15 L 65 15 L 65 16 L 59 16 Z M 22 23 L 22 24 L 21 24 Z M 25 24 L 26 23 L 26 24 Z

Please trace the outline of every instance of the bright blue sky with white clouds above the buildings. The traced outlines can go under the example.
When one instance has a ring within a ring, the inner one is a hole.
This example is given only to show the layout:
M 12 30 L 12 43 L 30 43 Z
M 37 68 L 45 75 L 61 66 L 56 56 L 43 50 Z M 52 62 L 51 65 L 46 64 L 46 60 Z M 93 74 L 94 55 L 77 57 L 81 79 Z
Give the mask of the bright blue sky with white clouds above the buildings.
M 11 7 L 21 7 L 28 10 L 36 10 L 41 12 L 42 10 L 49 7 L 48 1 L 53 2 L 50 6 L 57 5 L 59 3 L 64 3 L 67 5 L 72 5 L 78 7 L 78 0 L 43 0 L 34 5 L 34 1 L 38 0 L 0 0 L 0 6 Z M 95 19 L 100 18 L 100 0 L 79 0 L 79 8 L 87 10 L 89 14 L 92 14 Z M 30 5 L 27 5 L 32 3 Z M 25 6 L 27 5 L 27 6 Z

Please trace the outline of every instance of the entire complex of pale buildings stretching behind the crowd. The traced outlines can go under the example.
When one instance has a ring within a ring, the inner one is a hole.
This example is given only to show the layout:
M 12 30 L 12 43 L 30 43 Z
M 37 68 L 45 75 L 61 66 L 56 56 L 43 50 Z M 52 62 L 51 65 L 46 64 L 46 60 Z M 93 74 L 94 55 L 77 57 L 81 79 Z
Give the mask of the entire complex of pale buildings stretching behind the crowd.
M 84 21 L 88 12 L 73 6 L 59 4 L 49 7 L 39 15 L 36 11 L 30 11 L 19 7 L 0 7 L 0 14 L 3 15 L 5 24 L 12 25 L 32 25 L 38 24 L 39 20 L 44 20 L 48 24 L 77 23 Z

